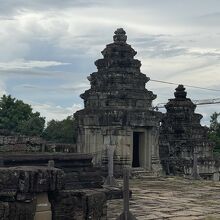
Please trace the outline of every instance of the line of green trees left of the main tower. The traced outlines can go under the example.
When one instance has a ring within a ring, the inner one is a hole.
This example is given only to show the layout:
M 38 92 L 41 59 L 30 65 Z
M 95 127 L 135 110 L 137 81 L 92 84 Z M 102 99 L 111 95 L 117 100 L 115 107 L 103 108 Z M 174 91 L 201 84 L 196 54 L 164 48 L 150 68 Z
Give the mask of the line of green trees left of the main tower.
M 47 122 L 39 112 L 33 112 L 31 105 L 11 95 L 0 99 L 0 129 L 27 136 L 42 137 L 47 141 L 60 143 L 76 142 L 76 123 L 73 116 Z

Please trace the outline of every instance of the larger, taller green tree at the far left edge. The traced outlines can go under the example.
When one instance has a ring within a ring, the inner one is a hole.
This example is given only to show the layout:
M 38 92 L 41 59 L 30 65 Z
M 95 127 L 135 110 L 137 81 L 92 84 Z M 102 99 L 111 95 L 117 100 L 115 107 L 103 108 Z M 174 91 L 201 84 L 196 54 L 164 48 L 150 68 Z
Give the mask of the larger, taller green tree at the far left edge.
M 30 136 L 41 136 L 45 119 L 33 112 L 30 105 L 21 100 L 3 95 L 0 99 L 0 129 Z

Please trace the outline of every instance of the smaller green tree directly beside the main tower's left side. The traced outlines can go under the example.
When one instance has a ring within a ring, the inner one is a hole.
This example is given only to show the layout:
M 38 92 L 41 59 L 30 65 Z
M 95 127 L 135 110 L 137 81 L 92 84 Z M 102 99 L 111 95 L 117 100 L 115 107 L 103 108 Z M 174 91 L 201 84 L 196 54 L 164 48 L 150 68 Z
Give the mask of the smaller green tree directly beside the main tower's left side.
M 68 116 L 62 121 L 49 121 L 43 137 L 52 142 L 76 143 L 76 134 L 75 119 L 73 116 Z

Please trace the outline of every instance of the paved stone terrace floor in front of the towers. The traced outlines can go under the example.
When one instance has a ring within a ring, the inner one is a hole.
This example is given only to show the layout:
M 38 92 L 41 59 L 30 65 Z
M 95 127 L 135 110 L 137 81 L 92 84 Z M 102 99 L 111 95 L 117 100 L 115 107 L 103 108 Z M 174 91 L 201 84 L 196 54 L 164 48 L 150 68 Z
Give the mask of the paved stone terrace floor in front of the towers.
M 180 177 L 130 180 L 130 210 L 138 220 L 220 219 L 220 183 Z M 122 212 L 122 200 L 108 202 L 108 220 Z

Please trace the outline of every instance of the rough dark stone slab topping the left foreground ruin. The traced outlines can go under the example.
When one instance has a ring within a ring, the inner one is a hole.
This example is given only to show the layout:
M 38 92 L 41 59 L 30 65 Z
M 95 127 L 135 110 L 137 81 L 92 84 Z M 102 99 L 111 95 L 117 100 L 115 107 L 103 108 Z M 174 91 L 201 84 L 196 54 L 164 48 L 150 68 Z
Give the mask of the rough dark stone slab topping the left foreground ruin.
M 0 191 L 39 193 L 64 187 L 64 172 L 57 168 L 21 166 L 0 168 Z

